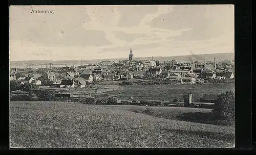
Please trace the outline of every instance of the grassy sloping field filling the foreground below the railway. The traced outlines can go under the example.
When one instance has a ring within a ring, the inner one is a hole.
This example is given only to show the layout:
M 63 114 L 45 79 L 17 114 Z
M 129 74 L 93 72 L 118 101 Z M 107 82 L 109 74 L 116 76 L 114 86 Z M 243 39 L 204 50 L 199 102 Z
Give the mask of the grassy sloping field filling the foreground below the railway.
M 138 109 L 141 108 L 141 109 Z M 154 107 L 170 118 L 133 112 L 135 106 L 72 102 L 10 102 L 10 146 L 22 148 L 232 147 L 234 127 L 178 120 L 208 109 Z M 159 109 L 158 109 L 159 108 Z M 176 120 L 175 120 L 176 119 Z

